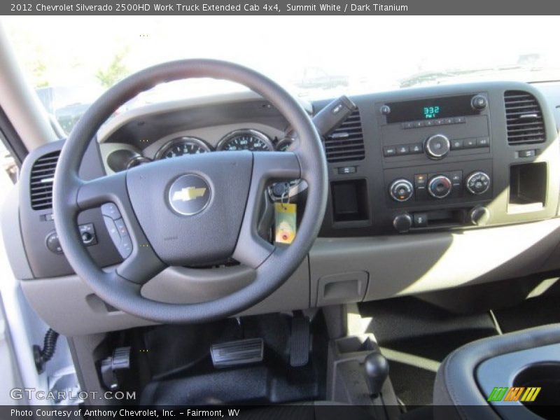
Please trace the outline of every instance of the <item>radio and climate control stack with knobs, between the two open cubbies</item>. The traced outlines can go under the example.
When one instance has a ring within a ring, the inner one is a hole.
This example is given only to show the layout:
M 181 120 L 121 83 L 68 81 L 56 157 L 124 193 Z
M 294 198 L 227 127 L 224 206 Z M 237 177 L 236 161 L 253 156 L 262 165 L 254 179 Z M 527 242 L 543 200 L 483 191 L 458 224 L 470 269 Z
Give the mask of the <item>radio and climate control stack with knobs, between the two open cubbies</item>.
M 488 92 L 375 106 L 395 230 L 486 223 L 484 204 L 493 198 Z

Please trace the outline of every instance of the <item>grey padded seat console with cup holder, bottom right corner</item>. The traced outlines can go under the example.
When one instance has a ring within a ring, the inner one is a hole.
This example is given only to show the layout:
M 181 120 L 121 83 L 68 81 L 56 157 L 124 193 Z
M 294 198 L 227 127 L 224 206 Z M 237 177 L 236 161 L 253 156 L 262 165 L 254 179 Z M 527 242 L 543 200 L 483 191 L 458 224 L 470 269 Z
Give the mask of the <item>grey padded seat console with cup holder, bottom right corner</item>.
M 556 419 L 560 325 L 481 339 L 442 362 L 434 386 L 438 419 Z

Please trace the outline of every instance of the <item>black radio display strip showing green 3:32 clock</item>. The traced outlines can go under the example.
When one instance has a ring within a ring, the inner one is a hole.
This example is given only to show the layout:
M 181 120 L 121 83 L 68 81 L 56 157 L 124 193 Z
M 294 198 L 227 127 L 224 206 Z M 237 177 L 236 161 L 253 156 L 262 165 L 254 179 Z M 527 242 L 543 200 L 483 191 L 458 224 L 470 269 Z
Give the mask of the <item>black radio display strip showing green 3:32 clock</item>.
M 435 120 L 437 118 L 474 116 L 479 113 L 470 106 L 473 95 L 465 94 L 454 97 L 416 99 L 406 102 L 391 102 L 387 105 L 391 112 L 387 123 L 405 123 L 417 120 Z

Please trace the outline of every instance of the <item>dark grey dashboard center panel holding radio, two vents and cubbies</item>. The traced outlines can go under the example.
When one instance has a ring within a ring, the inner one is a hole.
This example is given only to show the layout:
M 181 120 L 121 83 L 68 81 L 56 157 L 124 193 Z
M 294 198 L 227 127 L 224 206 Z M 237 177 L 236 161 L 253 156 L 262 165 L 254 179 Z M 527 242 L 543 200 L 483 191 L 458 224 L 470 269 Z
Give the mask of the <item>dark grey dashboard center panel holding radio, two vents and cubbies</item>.
M 449 85 L 352 99 L 359 116 L 325 139 L 331 197 L 324 236 L 463 230 L 556 215 L 557 133 L 533 86 Z

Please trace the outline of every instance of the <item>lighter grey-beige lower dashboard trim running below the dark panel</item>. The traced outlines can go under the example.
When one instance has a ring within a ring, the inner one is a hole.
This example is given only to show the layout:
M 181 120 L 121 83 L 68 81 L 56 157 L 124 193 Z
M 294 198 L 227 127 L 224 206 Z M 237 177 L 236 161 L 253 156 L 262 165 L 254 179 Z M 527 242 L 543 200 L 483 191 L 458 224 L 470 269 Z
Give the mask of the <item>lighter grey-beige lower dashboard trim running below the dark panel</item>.
M 315 307 L 319 280 L 332 274 L 369 273 L 365 300 L 379 300 L 510 279 L 545 267 L 558 269 L 559 239 L 560 218 L 456 233 L 319 238 L 309 253 L 309 266 L 306 258 L 281 288 L 244 314 Z M 501 244 L 501 248 L 496 248 L 496 244 Z M 195 274 L 195 270 L 169 268 L 145 286 L 143 294 L 167 302 L 185 302 L 194 297 L 207 300 L 251 281 L 241 268 L 237 286 L 224 283 L 225 278 L 216 279 L 210 274 L 195 278 Z M 20 284 L 31 306 L 64 335 L 151 325 L 108 308 L 78 276 Z M 340 299 L 348 302 L 345 297 Z M 332 303 L 336 302 L 329 302 Z

